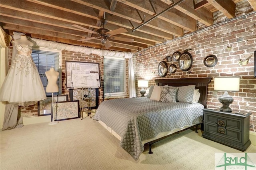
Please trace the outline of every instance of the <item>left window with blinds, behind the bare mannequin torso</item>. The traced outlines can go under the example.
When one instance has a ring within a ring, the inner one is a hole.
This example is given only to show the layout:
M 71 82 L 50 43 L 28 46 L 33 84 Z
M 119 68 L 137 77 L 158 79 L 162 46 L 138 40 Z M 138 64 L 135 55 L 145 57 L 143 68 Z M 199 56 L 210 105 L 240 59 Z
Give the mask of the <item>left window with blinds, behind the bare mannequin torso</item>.
M 45 72 L 54 68 L 55 71 L 60 72 L 60 76 L 57 80 L 57 85 L 59 86 L 59 92 L 54 93 L 54 95 L 62 94 L 62 81 L 61 81 L 61 51 L 50 50 L 45 48 L 32 48 L 32 58 L 36 67 L 38 69 L 44 90 L 48 84 Z M 52 93 L 46 93 L 46 96 L 52 96 Z

